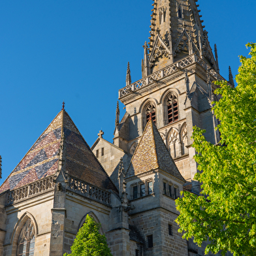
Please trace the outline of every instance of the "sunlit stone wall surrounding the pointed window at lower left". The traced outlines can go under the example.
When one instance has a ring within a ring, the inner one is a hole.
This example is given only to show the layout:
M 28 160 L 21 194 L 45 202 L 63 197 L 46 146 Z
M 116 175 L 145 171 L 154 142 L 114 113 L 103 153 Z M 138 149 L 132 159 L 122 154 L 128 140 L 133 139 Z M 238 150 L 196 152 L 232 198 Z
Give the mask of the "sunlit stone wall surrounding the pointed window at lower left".
M 6 207 L 7 234 L 5 236 L 3 256 L 16 256 L 20 231 L 28 217 L 36 229 L 35 256 L 50 255 L 50 232 L 54 191 L 49 191 L 32 199 L 16 202 Z

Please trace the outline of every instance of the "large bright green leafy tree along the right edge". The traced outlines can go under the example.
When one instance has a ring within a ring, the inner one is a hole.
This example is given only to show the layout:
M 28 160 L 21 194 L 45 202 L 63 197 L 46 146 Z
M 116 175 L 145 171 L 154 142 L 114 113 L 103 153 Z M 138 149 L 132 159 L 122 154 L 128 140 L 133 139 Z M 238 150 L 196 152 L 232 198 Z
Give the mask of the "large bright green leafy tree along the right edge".
M 200 195 L 184 192 L 176 200 L 176 219 L 184 238 L 210 244 L 205 253 L 255 255 L 256 251 L 256 44 L 249 43 L 249 57 L 240 56 L 236 82 L 216 82 L 221 95 L 214 113 L 221 121 L 221 146 L 204 138 L 194 127 L 195 161 L 202 183 Z

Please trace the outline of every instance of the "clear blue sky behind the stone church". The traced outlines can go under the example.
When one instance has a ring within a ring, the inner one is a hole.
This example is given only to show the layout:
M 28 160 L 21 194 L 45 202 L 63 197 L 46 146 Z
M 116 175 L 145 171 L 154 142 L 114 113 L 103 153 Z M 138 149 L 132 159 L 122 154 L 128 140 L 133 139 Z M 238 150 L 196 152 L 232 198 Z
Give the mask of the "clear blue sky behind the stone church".
M 141 78 L 150 0 L 0 1 L 0 155 L 3 179 L 65 109 L 89 146 L 100 129 L 112 141 L 118 89 Z M 256 1 L 199 0 L 221 75 L 256 42 Z M 121 115 L 124 114 L 121 104 Z

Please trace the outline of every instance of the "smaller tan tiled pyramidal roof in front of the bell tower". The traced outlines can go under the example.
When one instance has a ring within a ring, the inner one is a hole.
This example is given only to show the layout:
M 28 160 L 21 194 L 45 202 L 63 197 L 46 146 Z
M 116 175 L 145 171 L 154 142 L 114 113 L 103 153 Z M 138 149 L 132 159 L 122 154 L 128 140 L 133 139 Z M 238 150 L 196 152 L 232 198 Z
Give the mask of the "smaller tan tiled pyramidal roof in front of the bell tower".
M 152 120 L 148 121 L 133 154 L 126 178 L 149 170 L 161 169 L 185 182 Z

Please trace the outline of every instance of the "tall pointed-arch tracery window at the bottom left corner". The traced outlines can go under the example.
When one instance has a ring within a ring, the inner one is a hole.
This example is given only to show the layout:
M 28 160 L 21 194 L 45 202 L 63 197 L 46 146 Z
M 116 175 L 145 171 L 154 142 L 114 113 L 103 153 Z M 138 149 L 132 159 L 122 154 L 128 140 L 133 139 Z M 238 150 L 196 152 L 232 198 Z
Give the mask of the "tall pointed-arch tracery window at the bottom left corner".
M 35 251 L 35 227 L 31 219 L 27 219 L 18 238 L 18 256 L 33 256 Z

